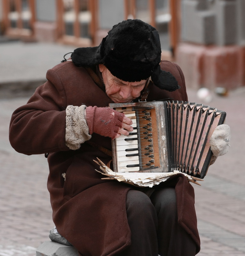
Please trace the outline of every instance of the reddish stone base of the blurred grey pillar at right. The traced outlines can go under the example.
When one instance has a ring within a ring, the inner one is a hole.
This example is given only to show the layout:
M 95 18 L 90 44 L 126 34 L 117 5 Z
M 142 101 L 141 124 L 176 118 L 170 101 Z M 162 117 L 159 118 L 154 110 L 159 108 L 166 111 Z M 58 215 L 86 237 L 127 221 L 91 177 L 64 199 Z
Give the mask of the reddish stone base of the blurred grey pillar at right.
M 181 43 L 176 55 L 189 88 L 234 89 L 245 85 L 245 47 Z

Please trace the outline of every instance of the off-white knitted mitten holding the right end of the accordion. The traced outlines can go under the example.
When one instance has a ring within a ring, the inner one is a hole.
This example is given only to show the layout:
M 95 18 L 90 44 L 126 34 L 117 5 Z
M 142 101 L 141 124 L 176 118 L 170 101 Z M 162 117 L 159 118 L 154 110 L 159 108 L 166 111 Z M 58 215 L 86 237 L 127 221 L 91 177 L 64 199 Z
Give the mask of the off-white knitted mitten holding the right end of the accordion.
M 214 156 L 221 156 L 228 152 L 231 130 L 227 124 L 218 125 L 210 137 L 210 147 Z

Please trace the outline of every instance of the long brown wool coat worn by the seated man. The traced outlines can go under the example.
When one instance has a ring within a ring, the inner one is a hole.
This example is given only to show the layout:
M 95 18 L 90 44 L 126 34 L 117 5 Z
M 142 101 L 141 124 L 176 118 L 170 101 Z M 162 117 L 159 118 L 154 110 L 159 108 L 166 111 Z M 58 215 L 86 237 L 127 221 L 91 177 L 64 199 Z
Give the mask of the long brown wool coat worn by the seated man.
M 181 89 L 175 92 L 151 87 L 148 101 L 171 98 L 187 100 L 185 81 L 178 65 L 163 61 Z M 106 107 L 112 101 L 93 82 L 85 69 L 71 61 L 48 70 L 48 81 L 36 89 L 28 103 L 14 111 L 10 124 L 13 148 L 27 155 L 49 153 L 48 190 L 57 230 L 86 256 L 114 255 L 130 245 L 125 200 L 130 186 L 115 180 L 102 180 L 93 159 L 104 163 L 110 157 L 83 143 L 79 150 L 65 145 L 67 105 Z M 91 141 L 111 149 L 108 137 L 93 134 Z M 66 180 L 62 174 L 66 173 Z M 194 189 L 182 175 L 176 184 L 178 221 L 200 250 L 194 209 Z

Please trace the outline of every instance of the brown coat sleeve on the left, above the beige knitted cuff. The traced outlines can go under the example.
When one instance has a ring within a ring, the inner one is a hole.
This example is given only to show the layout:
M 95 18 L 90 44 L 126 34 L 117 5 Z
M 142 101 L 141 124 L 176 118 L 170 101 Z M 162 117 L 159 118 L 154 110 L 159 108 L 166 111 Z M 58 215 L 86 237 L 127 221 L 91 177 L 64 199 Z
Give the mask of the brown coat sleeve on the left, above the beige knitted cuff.
M 65 90 L 54 70 L 48 70 L 47 79 L 28 103 L 12 114 L 9 140 L 19 153 L 31 155 L 68 150 L 65 145 Z

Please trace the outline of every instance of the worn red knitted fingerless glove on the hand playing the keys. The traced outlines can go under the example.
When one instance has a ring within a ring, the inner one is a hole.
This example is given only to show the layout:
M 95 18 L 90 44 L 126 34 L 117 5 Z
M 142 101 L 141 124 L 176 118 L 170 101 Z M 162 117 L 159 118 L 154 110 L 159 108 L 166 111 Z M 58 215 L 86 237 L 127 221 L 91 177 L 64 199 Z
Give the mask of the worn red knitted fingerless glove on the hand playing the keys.
M 118 130 L 123 126 L 124 114 L 109 107 L 90 106 L 86 108 L 86 117 L 90 135 L 95 132 L 115 139 Z

